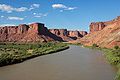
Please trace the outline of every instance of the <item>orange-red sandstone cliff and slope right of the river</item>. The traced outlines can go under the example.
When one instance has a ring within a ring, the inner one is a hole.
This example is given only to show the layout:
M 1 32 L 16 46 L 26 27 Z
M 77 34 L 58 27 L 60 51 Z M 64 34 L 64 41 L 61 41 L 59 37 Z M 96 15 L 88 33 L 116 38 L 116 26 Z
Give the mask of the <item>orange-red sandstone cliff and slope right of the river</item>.
M 80 42 L 89 46 L 95 43 L 107 48 L 120 46 L 120 17 L 107 22 L 91 23 L 90 33 Z

